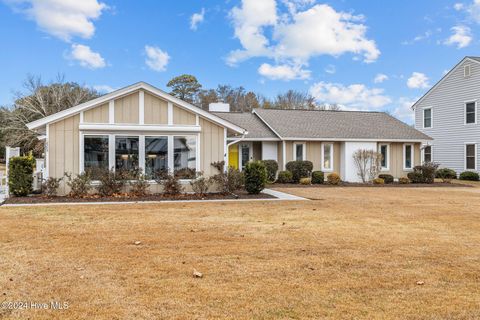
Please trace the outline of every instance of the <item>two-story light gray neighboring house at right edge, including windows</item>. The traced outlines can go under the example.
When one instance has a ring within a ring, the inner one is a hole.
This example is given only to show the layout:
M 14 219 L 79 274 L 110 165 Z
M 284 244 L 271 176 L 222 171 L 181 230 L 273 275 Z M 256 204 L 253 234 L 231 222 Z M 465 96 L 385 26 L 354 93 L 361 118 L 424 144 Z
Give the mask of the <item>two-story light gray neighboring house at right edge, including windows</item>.
M 433 138 L 422 146 L 422 161 L 457 173 L 478 171 L 480 57 L 465 57 L 412 108 L 415 128 Z

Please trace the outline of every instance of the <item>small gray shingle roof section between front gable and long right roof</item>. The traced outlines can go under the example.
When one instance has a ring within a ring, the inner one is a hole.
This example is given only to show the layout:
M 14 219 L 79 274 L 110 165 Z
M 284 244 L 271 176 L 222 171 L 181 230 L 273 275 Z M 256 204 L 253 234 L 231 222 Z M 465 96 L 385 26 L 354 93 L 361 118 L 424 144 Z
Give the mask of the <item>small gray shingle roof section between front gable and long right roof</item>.
M 227 120 L 248 131 L 247 139 L 278 139 L 277 135 L 268 128 L 253 113 L 240 112 L 212 112 L 214 115 Z

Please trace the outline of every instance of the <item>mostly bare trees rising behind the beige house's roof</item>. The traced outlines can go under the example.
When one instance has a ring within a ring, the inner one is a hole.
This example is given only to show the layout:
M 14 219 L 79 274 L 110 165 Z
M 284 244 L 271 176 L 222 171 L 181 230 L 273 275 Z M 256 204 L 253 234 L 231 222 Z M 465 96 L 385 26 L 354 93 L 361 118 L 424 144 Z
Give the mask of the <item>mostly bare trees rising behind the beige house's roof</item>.
M 40 77 L 28 76 L 23 87 L 23 91 L 14 93 L 11 106 L 0 107 L 0 159 L 5 156 L 5 146 L 21 147 L 24 153 L 32 151 L 42 156 L 43 142 L 26 124 L 101 95 L 88 86 L 65 81 L 63 76 L 49 83 L 44 83 Z M 337 105 L 318 105 L 309 93 L 296 90 L 269 99 L 242 86 L 219 85 L 215 89 L 204 89 L 195 76 L 186 74 L 171 79 L 167 87 L 173 96 L 204 110 L 213 102 L 228 103 L 234 112 L 250 112 L 255 108 L 339 110 Z

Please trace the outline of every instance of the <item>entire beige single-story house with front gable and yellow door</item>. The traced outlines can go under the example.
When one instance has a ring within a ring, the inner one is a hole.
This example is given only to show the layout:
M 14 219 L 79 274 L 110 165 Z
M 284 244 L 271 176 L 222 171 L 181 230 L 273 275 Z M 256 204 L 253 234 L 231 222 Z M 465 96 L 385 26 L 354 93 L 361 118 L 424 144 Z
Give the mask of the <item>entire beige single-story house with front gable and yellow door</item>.
M 45 139 L 45 177 L 140 169 L 151 178 L 170 170 L 187 186 L 192 171 L 216 174 L 213 162 L 242 170 L 252 159 L 277 160 L 281 169 L 291 160 L 310 160 L 315 170 L 358 181 L 352 155 L 361 148 L 378 149 L 385 173 L 399 178 L 420 164 L 420 144 L 430 140 L 379 112 L 233 113 L 225 104 L 210 111 L 139 82 L 27 126 Z M 59 193 L 67 192 L 62 182 Z

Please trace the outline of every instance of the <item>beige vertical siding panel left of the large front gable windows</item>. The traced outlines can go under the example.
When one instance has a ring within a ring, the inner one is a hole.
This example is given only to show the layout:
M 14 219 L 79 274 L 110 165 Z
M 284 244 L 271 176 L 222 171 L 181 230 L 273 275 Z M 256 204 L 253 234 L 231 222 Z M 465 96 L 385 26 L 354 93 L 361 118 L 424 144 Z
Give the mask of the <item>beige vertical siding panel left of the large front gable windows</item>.
M 48 174 L 50 177 L 62 178 L 65 172 L 79 173 L 79 123 L 80 115 L 77 114 L 48 125 Z M 68 192 L 65 181 L 62 180 L 58 193 Z

